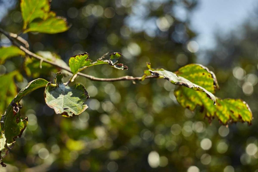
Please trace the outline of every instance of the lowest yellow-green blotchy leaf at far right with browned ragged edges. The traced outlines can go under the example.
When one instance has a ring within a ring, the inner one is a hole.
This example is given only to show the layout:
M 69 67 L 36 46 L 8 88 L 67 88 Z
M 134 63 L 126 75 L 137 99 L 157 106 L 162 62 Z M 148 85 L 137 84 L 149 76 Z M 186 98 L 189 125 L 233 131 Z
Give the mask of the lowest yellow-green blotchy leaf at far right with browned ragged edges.
M 243 100 L 216 98 L 216 105 L 213 105 L 213 102 L 204 93 L 195 92 L 185 87 L 179 87 L 174 94 L 178 103 L 184 108 L 193 111 L 197 105 L 201 106 L 203 114 L 209 119 L 209 122 L 217 116 L 224 125 L 245 121 L 251 124 L 252 112 Z

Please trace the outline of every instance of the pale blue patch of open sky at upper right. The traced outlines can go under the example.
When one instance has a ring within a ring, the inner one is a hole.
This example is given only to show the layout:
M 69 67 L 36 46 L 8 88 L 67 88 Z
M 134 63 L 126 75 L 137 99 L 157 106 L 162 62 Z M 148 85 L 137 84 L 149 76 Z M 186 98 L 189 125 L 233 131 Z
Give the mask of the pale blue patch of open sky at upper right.
M 257 0 L 199 0 L 191 15 L 191 28 L 197 31 L 196 38 L 201 50 L 212 48 L 214 32 L 226 34 L 237 29 L 258 7 Z

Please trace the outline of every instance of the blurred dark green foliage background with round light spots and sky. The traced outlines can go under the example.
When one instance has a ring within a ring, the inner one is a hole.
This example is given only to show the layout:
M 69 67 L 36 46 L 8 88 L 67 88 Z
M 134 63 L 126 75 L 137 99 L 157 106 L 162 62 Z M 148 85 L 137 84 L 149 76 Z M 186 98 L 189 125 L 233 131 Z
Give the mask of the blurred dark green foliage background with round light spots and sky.
M 19 1 L 1 0 L 1 27 L 21 33 Z M 244 99 L 253 111 L 246 123 L 212 124 L 180 107 L 174 85 L 163 79 L 114 83 L 78 77 L 89 108 L 65 118 L 54 113 L 38 89 L 22 100 L 29 119 L 0 171 L 255 171 L 257 149 L 258 13 L 255 0 L 53 0 L 51 10 L 71 28 L 55 35 L 21 36 L 33 52 L 50 51 L 64 61 L 88 52 L 92 60 L 121 52 L 128 71 L 108 65 L 84 72 L 111 78 L 141 76 L 146 62 L 176 71 L 200 63 L 214 71 L 221 98 Z M 1 37 L 1 46 L 10 45 Z M 33 80 L 21 57 L 0 65 L 1 75 L 23 73 L 20 88 Z M 52 81 L 53 71 L 41 78 Z

